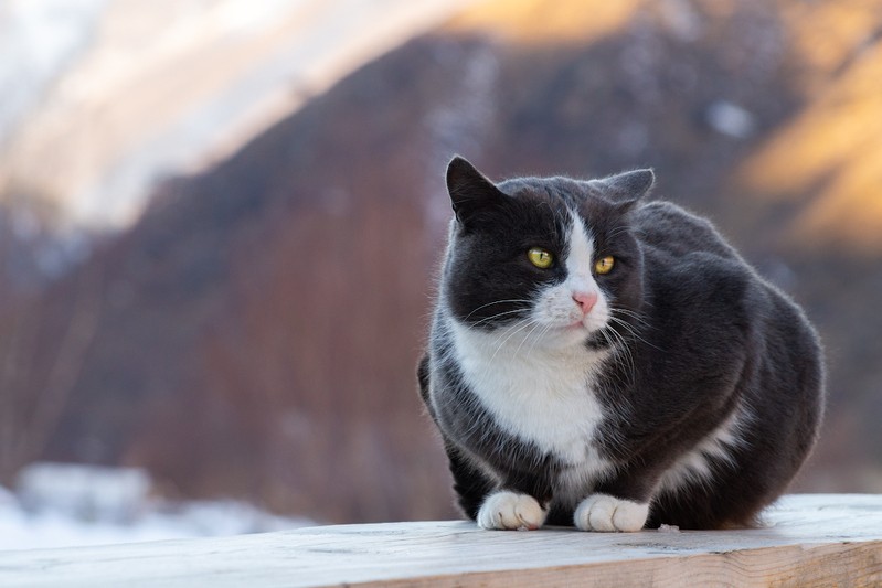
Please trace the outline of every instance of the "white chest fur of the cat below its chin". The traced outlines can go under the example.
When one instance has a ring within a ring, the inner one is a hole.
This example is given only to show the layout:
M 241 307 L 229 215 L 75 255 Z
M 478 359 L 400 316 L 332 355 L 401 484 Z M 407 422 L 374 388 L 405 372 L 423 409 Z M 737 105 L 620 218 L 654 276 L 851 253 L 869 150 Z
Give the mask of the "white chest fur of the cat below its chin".
M 513 330 L 453 324 L 453 333 L 469 388 L 500 426 L 577 470 L 605 468 L 592 443 L 603 418 L 593 371 L 604 353 L 581 345 L 536 350 L 528 333 Z

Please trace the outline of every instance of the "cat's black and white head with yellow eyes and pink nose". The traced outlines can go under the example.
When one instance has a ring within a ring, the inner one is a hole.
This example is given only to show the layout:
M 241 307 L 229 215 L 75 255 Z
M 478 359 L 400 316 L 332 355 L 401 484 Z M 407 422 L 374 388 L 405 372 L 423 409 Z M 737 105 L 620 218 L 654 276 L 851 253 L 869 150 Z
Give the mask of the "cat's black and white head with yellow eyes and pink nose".
M 642 255 L 629 215 L 653 181 L 639 170 L 495 184 L 454 158 L 447 189 L 456 217 L 442 292 L 454 319 L 509 330 L 532 345 L 618 341 L 642 304 Z

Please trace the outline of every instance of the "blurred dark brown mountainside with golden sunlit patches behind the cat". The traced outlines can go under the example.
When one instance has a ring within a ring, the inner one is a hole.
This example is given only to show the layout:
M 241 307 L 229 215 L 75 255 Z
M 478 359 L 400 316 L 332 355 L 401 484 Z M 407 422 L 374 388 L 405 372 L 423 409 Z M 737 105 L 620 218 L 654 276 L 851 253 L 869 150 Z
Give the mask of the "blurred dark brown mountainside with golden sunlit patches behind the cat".
M 796 488 L 882 491 L 880 9 L 465 9 L 167 180 L 4 318 L 36 334 L 2 341 L 19 452 L 0 464 L 146 467 L 169 493 L 323 521 L 450 515 L 413 374 L 459 152 L 495 178 L 655 167 L 822 333 L 830 410 Z

